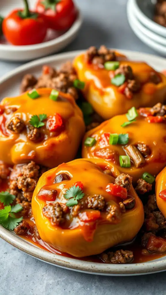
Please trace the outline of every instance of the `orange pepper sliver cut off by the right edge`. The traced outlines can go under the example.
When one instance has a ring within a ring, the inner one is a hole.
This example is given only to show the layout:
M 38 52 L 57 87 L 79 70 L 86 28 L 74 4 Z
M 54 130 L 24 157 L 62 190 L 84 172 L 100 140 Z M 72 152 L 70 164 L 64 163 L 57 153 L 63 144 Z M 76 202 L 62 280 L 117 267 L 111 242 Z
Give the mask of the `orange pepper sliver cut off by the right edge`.
M 160 192 L 166 189 L 166 167 L 156 177 L 156 201 L 157 206 L 166 218 L 166 200 L 160 198 Z

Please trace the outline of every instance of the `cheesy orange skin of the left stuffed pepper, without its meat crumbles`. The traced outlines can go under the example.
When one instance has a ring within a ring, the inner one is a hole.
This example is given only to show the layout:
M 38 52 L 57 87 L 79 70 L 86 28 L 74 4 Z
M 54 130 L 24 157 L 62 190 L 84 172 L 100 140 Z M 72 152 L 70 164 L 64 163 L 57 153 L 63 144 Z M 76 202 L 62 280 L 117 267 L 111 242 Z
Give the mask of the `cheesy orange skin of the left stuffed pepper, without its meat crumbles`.
M 59 92 L 59 101 L 49 98 L 52 89 L 37 90 L 40 97 L 31 99 L 27 92 L 17 97 L 5 98 L 0 104 L 0 158 L 6 164 L 29 163 L 31 160 L 49 168 L 73 160 L 85 132 L 83 115 L 69 94 Z M 63 128 L 55 132 L 48 130 L 47 120 L 59 114 Z M 38 128 L 41 140 L 35 142 L 27 137 L 31 116 L 46 114 L 45 125 Z M 21 118 L 25 128 L 12 132 L 6 128 L 12 117 Z

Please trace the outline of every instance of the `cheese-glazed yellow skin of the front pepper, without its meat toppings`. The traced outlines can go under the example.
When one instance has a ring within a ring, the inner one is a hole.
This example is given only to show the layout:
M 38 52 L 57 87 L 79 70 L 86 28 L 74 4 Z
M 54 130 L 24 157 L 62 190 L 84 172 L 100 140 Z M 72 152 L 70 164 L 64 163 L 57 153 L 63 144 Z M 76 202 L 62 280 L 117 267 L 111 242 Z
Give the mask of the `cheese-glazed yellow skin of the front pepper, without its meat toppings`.
M 110 169 L 112 176 L 104 174 L 105 169 Z M 68 173 L 71 179 L 53 184 L 55 176 L 64 172 Z M 108 194 L 105 190 L 108 183 L 114 183 L 118 175 L 119 171 L 113 164 L 98 159 L 77 159 L 45 172 L 40 177 L 32 197 L 32 212 L 41 239 L 53 248 L 76 257 L 99 254 L 119 243 L 132 240 L 144 221 L 143 205 L 133 187 L 128 194 L 135 198 L 136 204 L 133 209 L 121 213 L 117 223 L 106 219 L 105 208 L 102 211 L 92 210 L 96 213 L 93 216 L 94 222 L 80 222 L 81 215 L 86 216 L 88 210 L 82 209 L 79 215 L 73 217 L 72 207 L 69 207 L 65 222 L 58 226 L 52 225 L 42 212 L 46 201 L 38 196 L 43 186 L 55 189 L 58 191 L 56 201 L 65 204 L 67 200 L 63 197 L 64 189 L 69 189 L 75 182 L 81 181 L 85 196 L 80 201 L 84 202 L 87 195 L 101 194 L 105 198 L 106 206 L 115 205 L 120 210 L 119 202 L 122 199 Z

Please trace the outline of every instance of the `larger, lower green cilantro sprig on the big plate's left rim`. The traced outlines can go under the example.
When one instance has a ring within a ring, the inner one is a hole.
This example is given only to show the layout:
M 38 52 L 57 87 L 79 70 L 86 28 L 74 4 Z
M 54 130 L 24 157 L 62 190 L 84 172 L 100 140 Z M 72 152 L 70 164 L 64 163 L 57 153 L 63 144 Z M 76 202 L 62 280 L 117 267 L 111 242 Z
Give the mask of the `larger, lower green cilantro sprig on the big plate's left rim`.
M 17 204 L 19 205 L 19 204 Z M 6 206 L 4 209 L 0 210 L 0 224 L 6 228 L 6 230 L 14 230 L 14 228 L 19 224 L 19 222 L 22 221 L 23 217 L 16 218 L 14 214 L 12 213 L 12 210 L 14 209 L 13 212 L 19 212 L 18 206 L 15 205 L 13 207 L 11 206 Z M 19 205 L 20 206 L 20 205 Z M 15 208 L 14 208 L 15 207 Z M 11 214 L 11 215 L 10 215 Z

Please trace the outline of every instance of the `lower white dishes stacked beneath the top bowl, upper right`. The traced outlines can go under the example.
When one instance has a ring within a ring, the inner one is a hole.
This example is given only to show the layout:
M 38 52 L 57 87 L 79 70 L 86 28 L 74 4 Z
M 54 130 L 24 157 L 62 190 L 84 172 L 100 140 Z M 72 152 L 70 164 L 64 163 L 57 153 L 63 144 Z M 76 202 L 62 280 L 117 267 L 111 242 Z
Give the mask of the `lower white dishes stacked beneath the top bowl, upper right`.
M 136 15 L 134 14 L 132 0 L 129 0 L 127 3 L 127 17 L 130 27 L 135 33 L 135 35 L 149 47 L 153 48 L 158 53 L 166 56 L 166 46 L 162 45 L 166 45 L 166 38 L 158 36 L 157 34 L 154 34 L 153 32 L 149 31 L 138 21 Z

